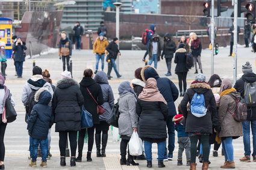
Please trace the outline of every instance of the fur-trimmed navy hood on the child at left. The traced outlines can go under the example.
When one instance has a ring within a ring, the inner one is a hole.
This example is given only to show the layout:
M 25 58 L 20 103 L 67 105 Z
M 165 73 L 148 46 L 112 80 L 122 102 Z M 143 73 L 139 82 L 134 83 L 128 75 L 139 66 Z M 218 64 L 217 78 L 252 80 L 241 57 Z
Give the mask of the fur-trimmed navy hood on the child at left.
M 35 94 L 35 101 L 42 105 L 48 105 L 52 100 L 52 95 L 49 93 L 48 88 L 40 88 Z

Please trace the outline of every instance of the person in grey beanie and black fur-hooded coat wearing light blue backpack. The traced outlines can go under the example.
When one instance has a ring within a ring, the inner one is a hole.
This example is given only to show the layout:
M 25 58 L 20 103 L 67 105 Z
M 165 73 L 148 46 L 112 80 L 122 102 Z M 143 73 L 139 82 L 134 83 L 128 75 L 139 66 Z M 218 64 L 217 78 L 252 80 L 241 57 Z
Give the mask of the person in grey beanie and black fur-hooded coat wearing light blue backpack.
M 195 93 L 203 94 L 205 107 L 210 108 L 207 109 L 206 115 L 203 117 L 196 117 L 190 110 L 187 111 L 187 104 L 191 104 Z M 213 127 L 217 132 L 220 132 L 220 126 L 213 92 L 211 91 L 210 85 L 205 82 L 204 74 L 198 74 L 196 76 L 195 81 L 190 85 L 190 88 L 185 93 L 180 105 L 183 115 L 186 118 L 186 132 L 189 133 L 190 137 L 190 168 L 195 169 L 197 143 L 198 140 L 200 140 L 204 153 L 204 163 L 202 168 L 207 169 L 210 154 L 209 135 L 213 133 Z

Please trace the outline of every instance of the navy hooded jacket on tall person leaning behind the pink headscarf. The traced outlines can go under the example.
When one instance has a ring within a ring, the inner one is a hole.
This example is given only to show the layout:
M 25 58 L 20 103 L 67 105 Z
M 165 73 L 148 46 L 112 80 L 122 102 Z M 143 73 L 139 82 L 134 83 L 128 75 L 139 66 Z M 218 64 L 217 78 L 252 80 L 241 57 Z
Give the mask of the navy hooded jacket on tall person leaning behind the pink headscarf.
M 167 106 L 169 108 L 169 116 L 176 115 L 174 102 L 176 99 L 178 99 L 179 91 L 175 84 L 167 77 L 159 77 L 157 70 L 155 70 L 155 68 L 151 67 L 150 65 L 146 65 L 142 69 L 141 76 L 144 82 L 146 82 L 146 80 L 150 77 L 157 80 L 157 88 L 167 102 Z

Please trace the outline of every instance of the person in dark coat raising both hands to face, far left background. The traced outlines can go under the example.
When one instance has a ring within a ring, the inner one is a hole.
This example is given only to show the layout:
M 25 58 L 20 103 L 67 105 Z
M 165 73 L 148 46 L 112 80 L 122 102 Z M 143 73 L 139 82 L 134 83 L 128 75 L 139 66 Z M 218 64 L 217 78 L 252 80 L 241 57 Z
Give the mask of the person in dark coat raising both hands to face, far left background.
M 27 50 L 26 43 L 17 37 L 17 41 L 13 46 L 14 51 L 14 62 L 17 68 L 17 77 L 22 78 L 23 62 L 25 61 L 25 52 Z

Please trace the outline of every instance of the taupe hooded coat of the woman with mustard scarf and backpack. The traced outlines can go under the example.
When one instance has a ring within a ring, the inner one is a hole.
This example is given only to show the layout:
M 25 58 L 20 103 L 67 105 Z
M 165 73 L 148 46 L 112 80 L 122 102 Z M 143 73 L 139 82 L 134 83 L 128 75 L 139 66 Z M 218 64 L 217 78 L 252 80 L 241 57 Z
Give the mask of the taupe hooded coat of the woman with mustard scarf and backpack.
M 236 112 L 236 101 L 240 99 L 240 94 L 237 91 L 225 94 L 220 97 L 219 104 L 219 122 L 221 130 L 219 137 L 239 137 L 243 136 L 242 123 L 235 121 L 233 116 L 228 112 Z

